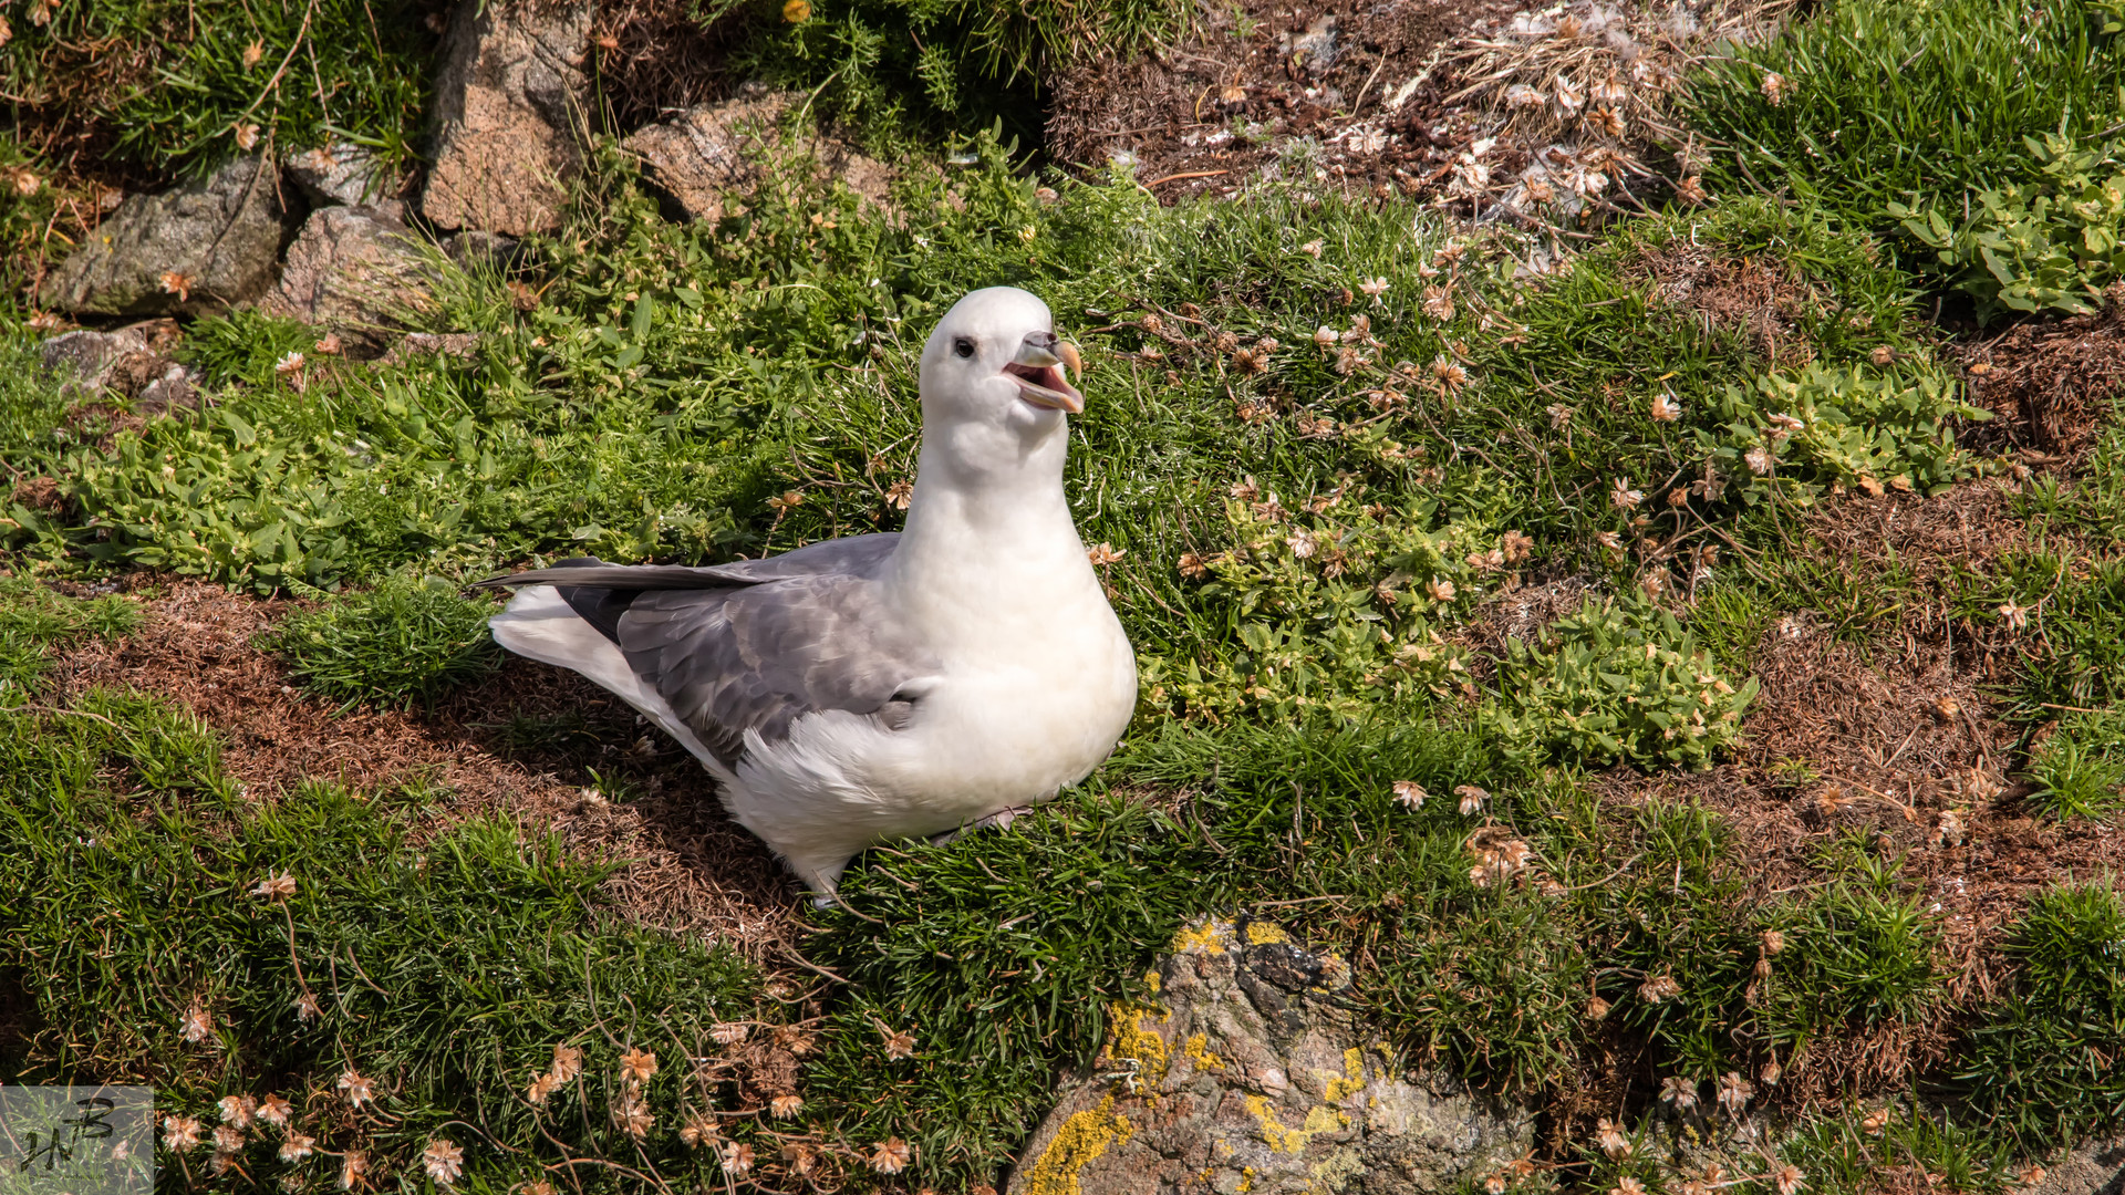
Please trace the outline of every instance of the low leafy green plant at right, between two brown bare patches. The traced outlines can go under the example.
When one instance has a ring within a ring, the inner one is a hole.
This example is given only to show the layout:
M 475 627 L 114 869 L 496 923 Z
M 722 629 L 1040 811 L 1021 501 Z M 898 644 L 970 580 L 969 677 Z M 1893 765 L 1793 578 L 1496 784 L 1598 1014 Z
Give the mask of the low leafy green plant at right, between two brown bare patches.
M 1810 364 L 1796 376 L 1726 387 L 1719 419 L 1698 430 L 1706 476 L 1723 478 L 1713 485 L 1734 487 L 1745 502 L 1772 493 L 1813 502 L 1825 485 L 1938 493 L 1974 470 L 1951 421 L 1991 413 L 1964 402 L 1938 370 L 1906 378 Z

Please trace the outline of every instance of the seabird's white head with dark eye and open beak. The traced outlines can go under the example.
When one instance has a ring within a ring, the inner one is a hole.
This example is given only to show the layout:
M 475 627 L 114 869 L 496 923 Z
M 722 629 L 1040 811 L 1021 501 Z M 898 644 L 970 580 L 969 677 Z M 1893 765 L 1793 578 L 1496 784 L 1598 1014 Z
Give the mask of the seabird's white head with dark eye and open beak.
M 952 304 L 922 344 L 922 421 L 1043 436 L 1084 410 L 1069 381 L 1080 370 L 1048 304 L 1018 287 L 980 289 Z

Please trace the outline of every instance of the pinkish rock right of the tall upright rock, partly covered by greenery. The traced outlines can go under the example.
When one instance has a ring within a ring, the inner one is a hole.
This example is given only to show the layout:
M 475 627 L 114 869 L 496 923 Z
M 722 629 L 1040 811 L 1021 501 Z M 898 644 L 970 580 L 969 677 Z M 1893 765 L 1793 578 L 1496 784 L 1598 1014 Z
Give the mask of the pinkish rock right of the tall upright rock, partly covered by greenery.
M 648 125 L 620 147 L 642 159 L 652 183 L 693 219 L 722 219 L 733 198 L 752 193 L 771 153 L 810 155 L 818 176 L 850 185 L 873 204 L 886 202 L 890 170 L 827 138 L 782 138 L 778 125 L 797 100 L 790 91 L 754 94 L 722 104 L 686 108 L 672 121 Z

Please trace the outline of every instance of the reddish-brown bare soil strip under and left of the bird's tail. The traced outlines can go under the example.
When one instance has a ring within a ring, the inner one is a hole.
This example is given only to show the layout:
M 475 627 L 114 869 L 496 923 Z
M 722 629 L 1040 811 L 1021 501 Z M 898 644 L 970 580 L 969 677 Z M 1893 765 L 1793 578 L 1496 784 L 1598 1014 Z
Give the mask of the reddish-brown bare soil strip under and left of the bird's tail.
M 731 823 L 710 776 L 635 714 L 570 672 L 508 659 L 436 710 L 336 710 L 298 689 L 255 640 L 291 606 L 227 589 L 136 578 L 144 623 L 121 642 L 57 655 L 62 693 L 121 687 L 191 708 L 221 734 L 249 800 L 306 778 L 353 789 L 440 791 L 427 834 L 502 814 L 555 831 L 584 857 L 620 859 L 620 910 L 759 961 L 795 955 L 797 891 L 767 848 Z M 631 742 L 631 746 L 629 746 Z M 606 793 L 586 791 L 591 770 Z

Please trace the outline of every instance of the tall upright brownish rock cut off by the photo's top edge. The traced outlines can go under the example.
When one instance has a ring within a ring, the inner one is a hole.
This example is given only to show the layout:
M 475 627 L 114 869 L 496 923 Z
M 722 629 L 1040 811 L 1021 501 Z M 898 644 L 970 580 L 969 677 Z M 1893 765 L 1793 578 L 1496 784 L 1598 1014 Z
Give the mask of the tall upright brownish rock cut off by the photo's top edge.
M 459 0 L 436 79 L 421 215 L 525 236 L 559 228 L 580 164 L 591 0 Z

